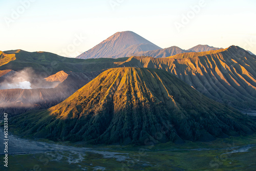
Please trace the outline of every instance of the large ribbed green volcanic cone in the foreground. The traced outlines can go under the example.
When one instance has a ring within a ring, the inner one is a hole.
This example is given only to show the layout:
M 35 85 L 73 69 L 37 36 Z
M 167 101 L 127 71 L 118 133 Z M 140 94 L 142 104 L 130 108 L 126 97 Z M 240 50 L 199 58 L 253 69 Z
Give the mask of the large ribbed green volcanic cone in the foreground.
M 255 131 L 253 120 L 155 69 L 110 69 L 49 110 L 12 118 L 22 135 L 87 143 L 213 140 Z

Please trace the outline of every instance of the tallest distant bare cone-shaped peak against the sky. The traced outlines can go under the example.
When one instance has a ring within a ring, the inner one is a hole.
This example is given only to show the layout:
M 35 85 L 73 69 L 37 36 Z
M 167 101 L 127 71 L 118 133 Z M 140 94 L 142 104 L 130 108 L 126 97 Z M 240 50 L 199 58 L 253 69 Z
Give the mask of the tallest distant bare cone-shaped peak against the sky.
M 162 49 L 132 31 L 117 32 L 76 58 L 120 58 L 131 53 Z

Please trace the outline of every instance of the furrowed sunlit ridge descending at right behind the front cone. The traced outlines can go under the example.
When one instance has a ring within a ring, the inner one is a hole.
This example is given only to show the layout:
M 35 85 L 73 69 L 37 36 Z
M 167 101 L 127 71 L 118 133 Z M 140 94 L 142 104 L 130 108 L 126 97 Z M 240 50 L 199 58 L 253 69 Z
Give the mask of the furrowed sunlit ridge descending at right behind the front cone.
M 130 57 L 119 67 L 166 70 L 209 98 L 240 110 L 256 110 L 256 56 L 236 46 L 216 52 L 181 59 Z

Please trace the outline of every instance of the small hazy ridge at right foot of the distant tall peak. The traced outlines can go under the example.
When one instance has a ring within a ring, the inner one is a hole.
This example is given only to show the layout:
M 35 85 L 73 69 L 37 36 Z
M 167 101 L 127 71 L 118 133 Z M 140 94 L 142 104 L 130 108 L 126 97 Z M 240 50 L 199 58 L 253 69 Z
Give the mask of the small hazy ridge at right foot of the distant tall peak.
M 186 53 L 186 52 L 191 52 L 191 51 L 186 51 L 179 47 L 173 46 L 170 48 L 158 49 L 158 50 L 154 50 L 154 51 L 132 53 L 127 56 L 151 56 L 154 58 L 162 58 L 162 57 L 173 56 L 176 54 Z

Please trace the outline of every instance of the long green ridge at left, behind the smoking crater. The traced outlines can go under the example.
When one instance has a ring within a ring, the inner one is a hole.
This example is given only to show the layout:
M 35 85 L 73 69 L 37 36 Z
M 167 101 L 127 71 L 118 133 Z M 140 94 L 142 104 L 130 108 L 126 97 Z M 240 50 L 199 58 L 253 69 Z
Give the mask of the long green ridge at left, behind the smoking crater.
M 0 70 L 19 71 L 32 68 L 37 74 L 47 77 L 59 71 L 98 72 L 117 66 L 122 59 L 76 59 L 58 56 L 49 52 L 26 52 L 13 50 L 5 52 L 0 59 Z

